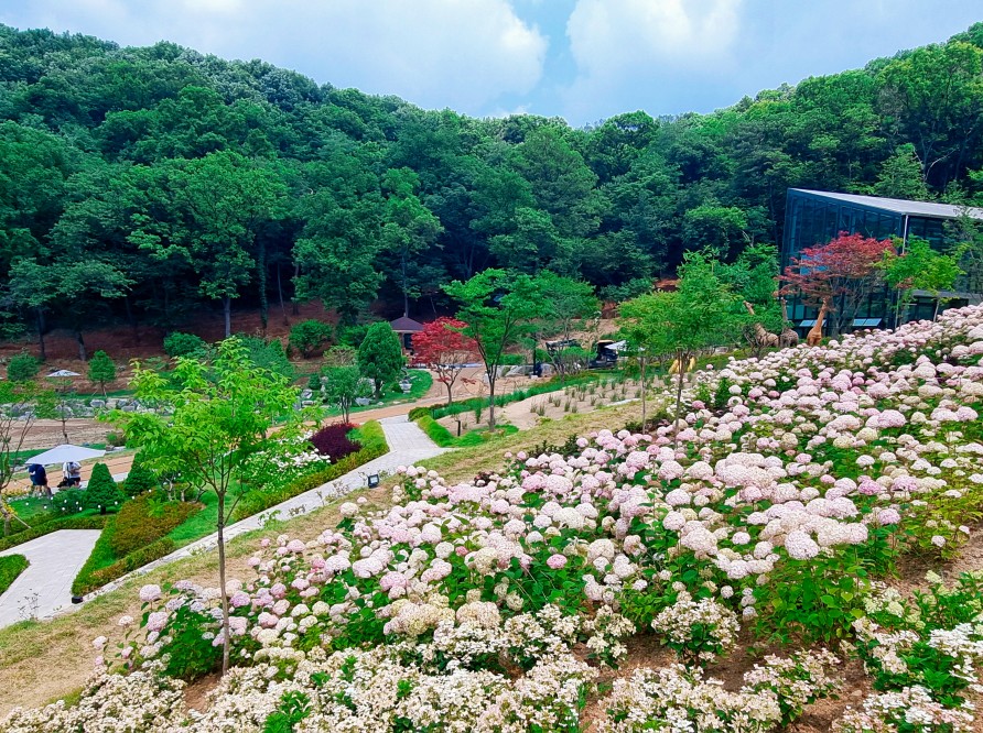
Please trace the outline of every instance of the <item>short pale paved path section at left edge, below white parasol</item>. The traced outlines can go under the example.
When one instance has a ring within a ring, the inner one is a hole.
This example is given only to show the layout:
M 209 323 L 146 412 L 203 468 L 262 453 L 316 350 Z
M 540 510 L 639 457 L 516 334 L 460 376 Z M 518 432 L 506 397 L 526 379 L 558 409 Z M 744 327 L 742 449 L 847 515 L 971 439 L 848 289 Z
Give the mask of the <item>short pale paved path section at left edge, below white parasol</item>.
M 45 617 L 72 603 L 72 581 L 85 565 L 99 529 L 58 529 L 0 555 L 23 555 L 31 564 L 0 595 L 0 627 Z

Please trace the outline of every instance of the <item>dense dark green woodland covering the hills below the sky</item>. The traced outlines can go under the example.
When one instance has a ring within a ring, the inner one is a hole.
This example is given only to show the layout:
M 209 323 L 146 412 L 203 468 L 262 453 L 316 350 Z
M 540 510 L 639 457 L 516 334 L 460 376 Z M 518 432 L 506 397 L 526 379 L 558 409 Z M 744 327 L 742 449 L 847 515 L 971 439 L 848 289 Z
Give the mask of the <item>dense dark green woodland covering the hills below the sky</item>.
M 983 23 L 712 114 L 586 129 L 6 26 L 0 77 L 7 337 L 307 298 L 426 316 L 489 266 L 623 299 L 689 250 L 780 241 L 790 186 L 983 200 Z

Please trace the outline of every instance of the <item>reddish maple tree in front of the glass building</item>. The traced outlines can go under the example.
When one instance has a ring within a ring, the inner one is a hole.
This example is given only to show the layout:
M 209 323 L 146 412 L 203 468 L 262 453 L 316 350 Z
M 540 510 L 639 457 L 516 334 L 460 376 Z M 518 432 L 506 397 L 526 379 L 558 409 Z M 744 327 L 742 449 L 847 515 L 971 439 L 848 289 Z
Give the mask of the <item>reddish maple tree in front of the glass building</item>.
M 840 232 L 828 244 L 803 248 L 791 259 L 781 275 L 786 283 L 781 293 L 799 293 L 803 303 L 815 308 L 825 305 L 833 333 L 840 333 L 881 284 L 877 264 L 893 249 L 889 239 Z

